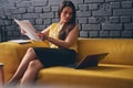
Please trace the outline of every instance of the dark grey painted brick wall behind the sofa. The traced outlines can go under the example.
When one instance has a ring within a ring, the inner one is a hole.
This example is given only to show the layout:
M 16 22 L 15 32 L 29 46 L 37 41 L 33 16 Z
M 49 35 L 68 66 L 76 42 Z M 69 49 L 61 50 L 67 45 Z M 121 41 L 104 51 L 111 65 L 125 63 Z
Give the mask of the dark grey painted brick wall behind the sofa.
M 62 0 L 0 0 L 0 41 L 27 38 L 13 19 L 28 19 L 39 31 L 58 22 Z M 133 0 L 72 0 L 80 37 L 132 38 Z

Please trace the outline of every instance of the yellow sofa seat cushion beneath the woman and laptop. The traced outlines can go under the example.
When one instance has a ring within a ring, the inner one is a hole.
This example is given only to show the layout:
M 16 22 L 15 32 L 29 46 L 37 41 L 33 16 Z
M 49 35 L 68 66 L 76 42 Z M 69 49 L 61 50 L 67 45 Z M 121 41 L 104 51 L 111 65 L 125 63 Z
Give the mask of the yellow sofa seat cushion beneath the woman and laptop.
M 99 64 L 98 67 L 74 69 L 71 67 L 50 67 L 41 69 L 38 84 L 75 88 L 132 88 L 133 66 Z

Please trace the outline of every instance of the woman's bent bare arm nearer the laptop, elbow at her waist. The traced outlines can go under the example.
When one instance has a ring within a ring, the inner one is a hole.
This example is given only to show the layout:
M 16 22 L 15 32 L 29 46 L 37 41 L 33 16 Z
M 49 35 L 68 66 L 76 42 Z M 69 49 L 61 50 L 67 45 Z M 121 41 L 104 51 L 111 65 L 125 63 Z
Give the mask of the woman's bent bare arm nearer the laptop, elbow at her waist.
M 78 25 L 75 25 L 74 29 L 69 33 L 69 35 L 66 36 L 64 41 L 55 40 L 48 35 L 44 35 L 44 38 L 60 47 L 68 48 L 78 40 L 78 36 L 79 36 L 79 29 L 78 29 Z

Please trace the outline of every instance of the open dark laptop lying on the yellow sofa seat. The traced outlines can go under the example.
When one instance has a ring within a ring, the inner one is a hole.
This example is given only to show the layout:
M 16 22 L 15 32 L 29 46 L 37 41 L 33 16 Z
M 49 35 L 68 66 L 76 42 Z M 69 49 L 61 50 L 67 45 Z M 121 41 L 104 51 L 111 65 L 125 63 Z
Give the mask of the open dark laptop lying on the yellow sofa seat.
M 93 54 L 86 55 L 81 62 L 78 64 L 71 65 L 70 67 L 74 67 L 75 69 L 94 67 L 108 55 L 109 53 Z

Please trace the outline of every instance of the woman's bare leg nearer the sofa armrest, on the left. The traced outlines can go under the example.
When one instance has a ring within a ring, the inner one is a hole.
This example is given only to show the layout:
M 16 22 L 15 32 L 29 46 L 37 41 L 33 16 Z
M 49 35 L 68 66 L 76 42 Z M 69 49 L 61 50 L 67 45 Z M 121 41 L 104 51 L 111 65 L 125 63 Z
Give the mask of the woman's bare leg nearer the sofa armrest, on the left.
M 33 51 L 32 47 L 30 47 L 24 57 L 22 58 L 17 72 L 14 73 L 14 75 L 12 76 L 12 78 L 9 80 L 8 85 L 16 85 L 18 84 L 18 81 L 20 80 L 20 78 L 23 76 L 29 63 L 33 59 L 35 59 L 37 55 Z

